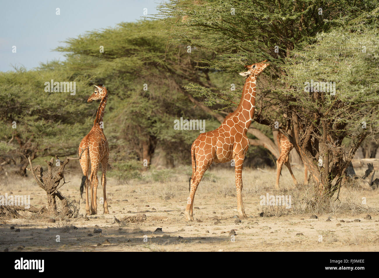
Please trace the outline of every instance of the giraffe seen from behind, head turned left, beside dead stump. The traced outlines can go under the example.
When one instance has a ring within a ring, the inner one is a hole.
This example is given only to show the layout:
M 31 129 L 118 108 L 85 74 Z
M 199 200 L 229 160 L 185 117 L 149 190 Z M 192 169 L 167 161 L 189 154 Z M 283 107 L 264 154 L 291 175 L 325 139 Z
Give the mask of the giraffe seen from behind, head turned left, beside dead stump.
M 109 214 L 108 203 L 106 202 L 105 186 L 106 177 L 105 172 L 108 166 L 108 156 L 109 148 L 108 141 L 105 138 L 103 132 L 103 116 L 106 106 L 106 100 L 108 98 L 108 92 L 104 86 L 96 86 L 95 92 L 89 96 L 87 102 L 92 100 L 101 99 L 99 108 L 97 109 L 96 118 L 91 131 L 86 135 L 86 137 L 81 140 L 78 152 L 80 153 L 82 149 L 87 148 L 80 158 L 80 166 L 83 171 L 83 177 L 81 178 L 80 194 L 83 194 L 83 188 L 86 188 L 86 214 L 97 214 L 97 203 L 96 203 L 96 192 L 97 186 L 99 185 L 99 180 L 97 179 L 97 169 L 99 168 L 99 163 L 102 166 L 102 177 L 101 184 L 103 187 L 103 197 L 104 197 L 104 214 Z M 91 161 L 91 175 L 88 179 L 88 166 L 89 161 Z M 91 183 L 91 211 L 88 201 L 88 184 Z

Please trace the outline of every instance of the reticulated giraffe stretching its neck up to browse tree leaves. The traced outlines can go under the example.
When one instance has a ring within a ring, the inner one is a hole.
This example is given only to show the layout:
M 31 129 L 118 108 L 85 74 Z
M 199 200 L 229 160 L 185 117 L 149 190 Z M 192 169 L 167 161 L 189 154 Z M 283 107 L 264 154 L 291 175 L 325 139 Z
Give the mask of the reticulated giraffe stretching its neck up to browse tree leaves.
M 197 186 L 205 171 L 213 163 L 224 163 L 234 160 L 237 190 L 237 211 L 241 218 L 246 218 L 242 202 L 242 166 L 249 139 L 246 136 L 255 108 L 255 84 L 257 77 L 268 67 L 267 60 L 246 65 L 247 71 L 240 75 L 247 76 L 237 109 L 230 113 L 218 129 L 199 135 L 191 147 L 192 176 L 189 179 L 189 197 L 186 206 L 186 219 L 193 221 L 193 201 Z

